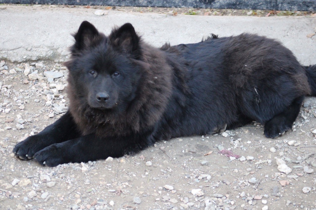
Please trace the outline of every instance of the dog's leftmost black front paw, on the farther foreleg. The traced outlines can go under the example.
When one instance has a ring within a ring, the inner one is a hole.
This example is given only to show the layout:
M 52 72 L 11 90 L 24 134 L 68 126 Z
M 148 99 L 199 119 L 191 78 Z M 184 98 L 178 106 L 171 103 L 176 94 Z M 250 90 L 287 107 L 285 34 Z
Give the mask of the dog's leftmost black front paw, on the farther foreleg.
M 32 159 L 34 154 L 45 148 L 45 142 L 38 136 L 27 137 L 24 141 L 17 143 L 13 149 L 15 156 L 23 160 Z

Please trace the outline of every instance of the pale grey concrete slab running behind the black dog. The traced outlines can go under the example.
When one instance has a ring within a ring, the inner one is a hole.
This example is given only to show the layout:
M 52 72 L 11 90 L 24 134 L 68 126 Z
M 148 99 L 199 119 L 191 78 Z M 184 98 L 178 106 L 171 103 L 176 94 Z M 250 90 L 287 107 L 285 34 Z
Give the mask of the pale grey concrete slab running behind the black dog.
M 2 6 L 3 7 L 3 6 Z M 94 9 L 54 6 L 5 6 L 0 9 L 0 58 L 9 61 L 64 61 L 73 43 L 71 33 L 83 20 L 108 34 L 115 25 L 130 22 L 143 39 L 161 46 L 198 42 L 210 33 L 220 37 L 242 32 L 276 38 L 304 64 L 316 64 L 316 18 L 159 15 L 108 11 L 96 16 Z

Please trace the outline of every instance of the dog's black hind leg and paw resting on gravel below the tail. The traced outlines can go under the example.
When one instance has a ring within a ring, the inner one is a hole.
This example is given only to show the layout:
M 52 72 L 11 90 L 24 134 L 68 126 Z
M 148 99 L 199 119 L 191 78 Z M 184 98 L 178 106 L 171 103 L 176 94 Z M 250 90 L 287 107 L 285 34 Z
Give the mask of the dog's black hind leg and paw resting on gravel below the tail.
M 300 112 L 303 100 L 304 96 L 296 98 L 285 111 L 268 120 L 264 125 L 264 135 L 268 138 L 276 138 L 291 129 L 293 122 Z

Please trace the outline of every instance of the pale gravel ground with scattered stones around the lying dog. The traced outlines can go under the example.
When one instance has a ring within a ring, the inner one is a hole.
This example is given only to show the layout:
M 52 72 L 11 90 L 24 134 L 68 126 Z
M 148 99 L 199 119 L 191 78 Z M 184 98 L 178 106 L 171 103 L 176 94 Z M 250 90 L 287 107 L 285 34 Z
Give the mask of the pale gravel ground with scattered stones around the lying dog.
M 253 122 L 49 168 L 12 149 L 66 112 L 67 69 L 1 61 L 0 77 L 0 209 L 316 209 L 315 98 L 276 139 Z

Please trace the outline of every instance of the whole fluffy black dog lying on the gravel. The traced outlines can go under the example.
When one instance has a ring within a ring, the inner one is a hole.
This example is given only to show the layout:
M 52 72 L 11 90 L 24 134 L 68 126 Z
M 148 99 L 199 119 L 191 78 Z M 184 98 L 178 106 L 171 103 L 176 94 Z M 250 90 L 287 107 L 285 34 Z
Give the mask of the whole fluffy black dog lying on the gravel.
M 69 111 L 15 146 L 22 159 L 56 166 L 119 157 L 252 120 L 275 138 L 291 128 L 304 96 L 316 96 L 316 65 L 301 66 L 262 36 L 212 35 L 157 49 L 129 23 L 105 36 L 84 21 L 74 37 L 65 62 Z

